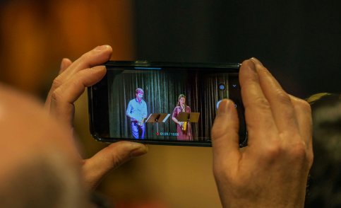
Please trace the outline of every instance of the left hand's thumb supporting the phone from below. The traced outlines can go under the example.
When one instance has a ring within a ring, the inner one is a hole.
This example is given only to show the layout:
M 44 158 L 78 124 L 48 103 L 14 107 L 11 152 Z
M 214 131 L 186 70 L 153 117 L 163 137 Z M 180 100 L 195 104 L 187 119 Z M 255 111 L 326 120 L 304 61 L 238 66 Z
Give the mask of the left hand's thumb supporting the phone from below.
M 103 176 L 122 163 L 148 152 L 148 146 L 130 141 L 119 141 L 85 160 L 83 173 L 89 189 L 94 189 Z

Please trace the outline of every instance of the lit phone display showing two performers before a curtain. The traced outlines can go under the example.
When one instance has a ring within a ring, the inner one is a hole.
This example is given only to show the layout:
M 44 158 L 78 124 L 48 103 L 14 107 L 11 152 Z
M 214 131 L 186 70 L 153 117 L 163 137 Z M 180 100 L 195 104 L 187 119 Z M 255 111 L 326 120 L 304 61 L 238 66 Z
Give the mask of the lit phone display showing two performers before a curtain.
M 107 77 L 114 138 L 210 141 L 220 100 L 239 96 L 238 74 L 224 69 L 131 67 Z

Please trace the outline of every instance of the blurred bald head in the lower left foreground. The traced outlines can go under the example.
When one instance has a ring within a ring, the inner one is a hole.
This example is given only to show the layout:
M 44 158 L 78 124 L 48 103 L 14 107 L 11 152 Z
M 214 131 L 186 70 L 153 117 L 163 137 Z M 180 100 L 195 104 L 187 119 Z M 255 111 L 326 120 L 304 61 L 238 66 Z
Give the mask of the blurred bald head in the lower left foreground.
M 71 134 L 42 104 L 0 84 L 0 207 L 86 204 Z

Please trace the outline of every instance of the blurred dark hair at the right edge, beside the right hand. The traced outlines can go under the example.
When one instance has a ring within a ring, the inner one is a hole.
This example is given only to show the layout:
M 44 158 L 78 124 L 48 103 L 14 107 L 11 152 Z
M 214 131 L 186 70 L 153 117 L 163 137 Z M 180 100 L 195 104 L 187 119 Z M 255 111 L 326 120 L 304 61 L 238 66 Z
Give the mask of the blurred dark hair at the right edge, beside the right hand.
M 341 95 L 307 100 L 313 117 L 313 154 L 305 207 L 341 207 Z

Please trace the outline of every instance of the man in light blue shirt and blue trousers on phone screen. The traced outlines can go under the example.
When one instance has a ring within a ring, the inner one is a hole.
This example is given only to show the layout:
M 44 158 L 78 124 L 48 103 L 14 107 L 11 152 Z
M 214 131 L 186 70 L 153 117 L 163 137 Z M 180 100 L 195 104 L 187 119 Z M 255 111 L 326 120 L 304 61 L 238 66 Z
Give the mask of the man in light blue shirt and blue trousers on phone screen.
M 133 100 L 130 100 L 126 108 L 126 115 L 131 119 L 131 134 L 135 139 L 143 139 L 145 136 L 145 118 L 147 117 L 147 104 L 143 100 L 143 89 L 136 88 Z

